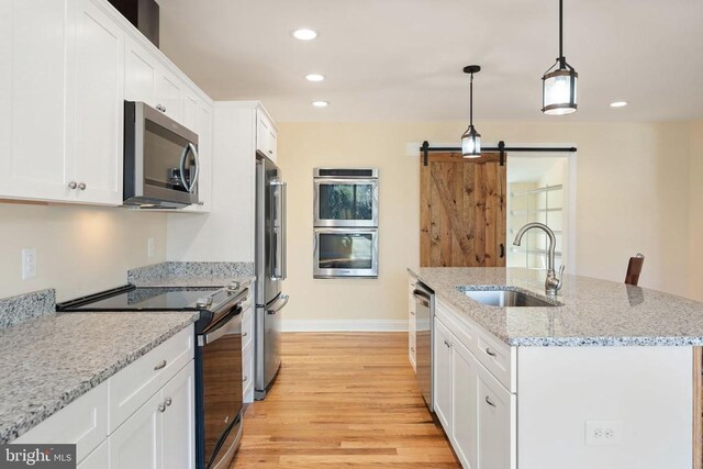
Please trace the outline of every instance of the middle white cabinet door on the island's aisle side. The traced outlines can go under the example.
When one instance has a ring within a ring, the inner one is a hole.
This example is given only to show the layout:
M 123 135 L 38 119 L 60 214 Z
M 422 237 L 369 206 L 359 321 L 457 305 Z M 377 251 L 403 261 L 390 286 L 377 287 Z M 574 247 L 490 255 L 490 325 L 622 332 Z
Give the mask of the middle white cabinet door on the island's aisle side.
M 453 443 L 457 457 L 465 469 L 477 468 L 478 416 L 477 386 L 478 361 L 458 340 L 454 344 L 453 369 L 454 402 Z M 488 466 L 492 468 L 492 466 Z

